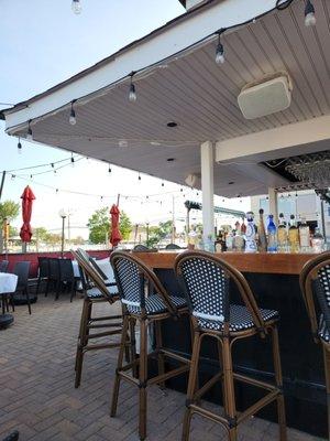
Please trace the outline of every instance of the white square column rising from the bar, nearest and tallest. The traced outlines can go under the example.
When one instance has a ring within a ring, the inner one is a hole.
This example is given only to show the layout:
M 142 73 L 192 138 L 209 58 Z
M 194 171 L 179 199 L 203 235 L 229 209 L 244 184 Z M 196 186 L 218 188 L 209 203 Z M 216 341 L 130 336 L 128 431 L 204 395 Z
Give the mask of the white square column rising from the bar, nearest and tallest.
M 200 169 L 201 169 L 201 191 L 202 191 L 202 230 L 204 240 L 208 236 L 215 237 L 215 146 L 211 141 L 206 141 L 200 146 Z

